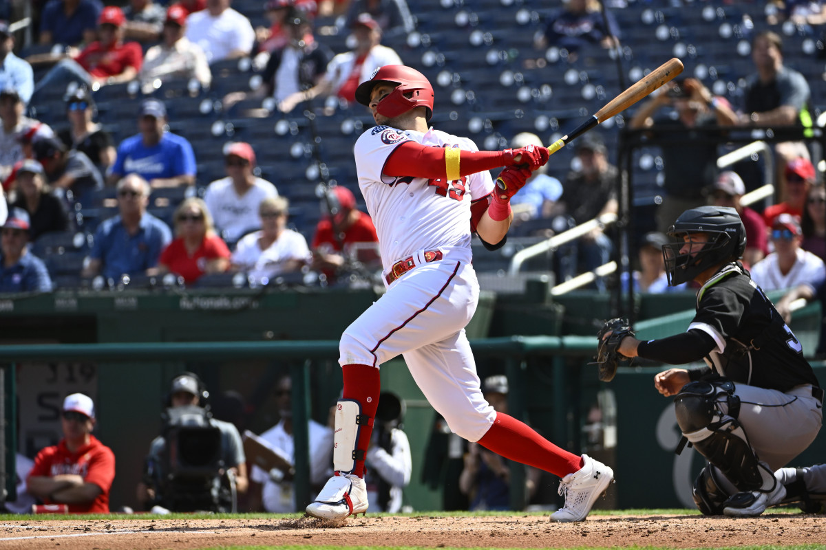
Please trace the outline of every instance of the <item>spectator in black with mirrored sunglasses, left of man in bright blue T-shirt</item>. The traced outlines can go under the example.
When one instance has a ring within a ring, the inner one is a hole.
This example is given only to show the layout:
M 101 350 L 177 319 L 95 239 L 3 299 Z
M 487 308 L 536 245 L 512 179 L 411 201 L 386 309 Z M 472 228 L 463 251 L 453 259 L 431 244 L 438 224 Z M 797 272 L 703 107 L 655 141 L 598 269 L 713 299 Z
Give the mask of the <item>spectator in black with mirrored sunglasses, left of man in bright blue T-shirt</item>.
M 115 162 L 115 146 L 112 135 L 103 126 L 94 122 L 97 109 L 92 94 L 86 87 L 65 97 L 66 118 L 69 127 L 58 133 L 66 148 L 74 149 L 89 157 L 102 173 Z

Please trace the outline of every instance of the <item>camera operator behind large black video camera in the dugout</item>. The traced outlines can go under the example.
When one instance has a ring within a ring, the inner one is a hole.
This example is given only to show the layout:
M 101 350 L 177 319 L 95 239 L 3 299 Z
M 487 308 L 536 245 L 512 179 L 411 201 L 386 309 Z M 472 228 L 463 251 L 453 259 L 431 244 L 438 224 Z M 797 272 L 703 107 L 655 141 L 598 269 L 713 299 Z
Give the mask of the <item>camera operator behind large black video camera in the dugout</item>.
M 173 378 L 164 430 L 150 445 L 138 499 L 146 508 L 235 511 L 247 491 L 246 458 L 235 425 L 212 418 L 197 374 Z

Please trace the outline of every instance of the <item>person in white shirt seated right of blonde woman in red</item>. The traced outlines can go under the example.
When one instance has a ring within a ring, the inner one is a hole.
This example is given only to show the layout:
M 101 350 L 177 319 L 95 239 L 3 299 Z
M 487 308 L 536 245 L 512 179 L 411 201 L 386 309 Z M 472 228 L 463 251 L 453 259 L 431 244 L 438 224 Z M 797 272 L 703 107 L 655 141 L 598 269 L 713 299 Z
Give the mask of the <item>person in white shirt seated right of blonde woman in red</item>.
M 238 242 L 232 254 L 234 270 L 246 271 L 253 280 L 266 284 L 277 275 L 301 270 L 311 262 L 304 236 L 287 228 L 289 206 L 284 197 L 261 201 L 259 217 L 263 228 Z

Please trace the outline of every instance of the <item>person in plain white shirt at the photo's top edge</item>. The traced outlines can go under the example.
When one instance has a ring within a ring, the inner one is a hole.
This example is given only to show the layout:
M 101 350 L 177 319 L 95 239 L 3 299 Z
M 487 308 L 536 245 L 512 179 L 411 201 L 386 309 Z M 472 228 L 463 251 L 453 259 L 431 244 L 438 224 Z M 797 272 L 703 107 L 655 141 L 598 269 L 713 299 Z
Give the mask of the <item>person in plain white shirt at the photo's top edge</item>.
M 187 18 L 188 40 L 201 46 L 210 63 L 252 54 L 253 26 L 230 3 L 231 0 L 207 0 L 207 9 Z

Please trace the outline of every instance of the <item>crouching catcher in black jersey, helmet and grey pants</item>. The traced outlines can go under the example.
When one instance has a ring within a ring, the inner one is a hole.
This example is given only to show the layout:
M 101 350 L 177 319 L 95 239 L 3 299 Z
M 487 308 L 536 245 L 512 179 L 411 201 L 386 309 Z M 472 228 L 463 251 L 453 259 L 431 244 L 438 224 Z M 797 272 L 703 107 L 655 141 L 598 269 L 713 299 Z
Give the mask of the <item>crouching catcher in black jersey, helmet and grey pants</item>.
M 662 246 L 668 284 L 700 284 L 697 313 L 686 332 L 649 341 L 610 322 L 601 331 L 602 377 L 613 377 L 617 354 L 667 364 L 705 360 L 703 368 L 654 377 L 657 391 L 674 397 L 682 443 L 707 461 L 694 501 L 705 515 L 760 515 L 786 497 L 773 472 L 818 435 L 824 391 L 800 342 L 738 261 L 746 233 L 737 212 L 689 209 L 668 235 L 676 240 Z

